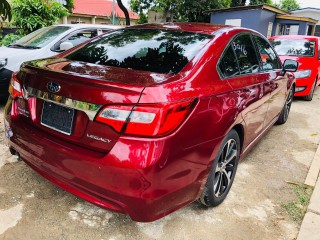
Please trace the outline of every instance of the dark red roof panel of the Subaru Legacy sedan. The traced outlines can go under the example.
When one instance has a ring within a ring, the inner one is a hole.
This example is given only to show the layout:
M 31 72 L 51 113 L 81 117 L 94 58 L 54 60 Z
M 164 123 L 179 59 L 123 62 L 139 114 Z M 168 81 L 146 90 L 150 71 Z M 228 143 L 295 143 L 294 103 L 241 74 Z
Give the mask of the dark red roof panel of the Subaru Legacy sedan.
M 228 25 L 210 24 L 210 23 L 164 23 L 164 24 L 141 24 L 128 28 L 143 28 L 143 29 L 165 29 L 165 30 L 178 30 L 194 33 L 203 33 L 213 35 L 221 29 L 237 28 Z M 241 28 L 246 29 L 246 28 Z M 247 29 L 248 30 L 248 29 Z

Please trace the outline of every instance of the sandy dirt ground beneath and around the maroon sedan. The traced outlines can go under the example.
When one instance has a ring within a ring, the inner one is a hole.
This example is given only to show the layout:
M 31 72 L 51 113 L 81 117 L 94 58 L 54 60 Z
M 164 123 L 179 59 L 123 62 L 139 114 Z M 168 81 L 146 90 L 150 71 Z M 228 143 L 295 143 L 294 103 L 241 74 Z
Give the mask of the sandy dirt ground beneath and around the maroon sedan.
M 300 224 L 283 210 L 296 198 L 320 140 L 320 89 L 296 99 L 285 125 L 274 126 L 239 165 L 226 201 L 198 203 L 153 223 L 136 223 L 65 192 L 10 156 L 0 105 L 0 239 L 295 239 Z

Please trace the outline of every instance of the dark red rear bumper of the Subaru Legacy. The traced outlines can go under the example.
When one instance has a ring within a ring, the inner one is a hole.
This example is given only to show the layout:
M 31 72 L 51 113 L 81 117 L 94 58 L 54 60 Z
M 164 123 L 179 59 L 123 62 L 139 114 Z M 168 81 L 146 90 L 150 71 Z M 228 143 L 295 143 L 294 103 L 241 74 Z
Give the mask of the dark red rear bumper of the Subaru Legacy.
M 9 146 L 23 161 L 59 187 L 141 222 L 159 219 L 199 197 L 210 170 L 212 146 L 221 141 L 176 151 L 179 147 L 172 138 L 120 138 L 109 153 L 101 154 L 34 128 L 24 116 L 11 115 L 10 108 L 9 103 L 5 110 L 12 131 Z M 200 161 L 193 161 L 194 156 Z

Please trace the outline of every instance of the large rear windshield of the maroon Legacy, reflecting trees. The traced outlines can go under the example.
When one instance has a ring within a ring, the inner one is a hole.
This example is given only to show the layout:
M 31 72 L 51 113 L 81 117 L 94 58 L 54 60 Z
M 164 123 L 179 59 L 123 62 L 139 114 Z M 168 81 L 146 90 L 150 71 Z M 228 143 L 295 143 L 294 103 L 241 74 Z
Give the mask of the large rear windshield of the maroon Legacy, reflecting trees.
M 70 60 L 176 74 L 211 35 L 162 29 L 121 29 L 69 54 Z

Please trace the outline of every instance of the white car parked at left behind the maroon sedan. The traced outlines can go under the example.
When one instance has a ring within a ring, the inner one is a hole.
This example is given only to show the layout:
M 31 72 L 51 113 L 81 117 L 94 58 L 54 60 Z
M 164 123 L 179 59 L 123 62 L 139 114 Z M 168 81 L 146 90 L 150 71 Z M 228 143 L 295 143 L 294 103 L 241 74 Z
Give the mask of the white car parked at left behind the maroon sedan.
M 0 47 L 0 99 L 8 98 L 13 72 L 25 61 L 54 56 L 111 29 L 113 25 L 63 24 L 41 28 L 7 47 Z

